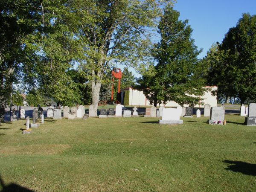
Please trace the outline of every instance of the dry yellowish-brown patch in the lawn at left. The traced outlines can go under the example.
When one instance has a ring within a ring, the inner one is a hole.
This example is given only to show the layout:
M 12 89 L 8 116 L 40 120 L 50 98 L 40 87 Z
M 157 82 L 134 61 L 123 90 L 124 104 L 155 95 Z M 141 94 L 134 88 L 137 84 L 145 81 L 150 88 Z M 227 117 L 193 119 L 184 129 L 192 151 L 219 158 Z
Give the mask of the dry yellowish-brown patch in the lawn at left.
M 0 154 L 40 154 L 51 155 L 61 154 L 62 151 L 70 148 L 70 145 L 63 144 L 32 144 L 24 146 L 5 146 L 0 148 Z

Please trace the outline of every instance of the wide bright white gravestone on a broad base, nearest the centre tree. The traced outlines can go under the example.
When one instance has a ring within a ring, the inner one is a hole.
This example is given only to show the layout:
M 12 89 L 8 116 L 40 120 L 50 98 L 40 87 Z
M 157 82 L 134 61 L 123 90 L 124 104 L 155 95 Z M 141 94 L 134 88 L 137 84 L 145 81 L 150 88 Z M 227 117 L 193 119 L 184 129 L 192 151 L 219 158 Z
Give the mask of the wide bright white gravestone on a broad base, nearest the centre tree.
M 158 120 L 160 124 L 183 124 L 180 120 L 178 110 L 175 108 L 166 108 L 162 110 L 162 119 Z

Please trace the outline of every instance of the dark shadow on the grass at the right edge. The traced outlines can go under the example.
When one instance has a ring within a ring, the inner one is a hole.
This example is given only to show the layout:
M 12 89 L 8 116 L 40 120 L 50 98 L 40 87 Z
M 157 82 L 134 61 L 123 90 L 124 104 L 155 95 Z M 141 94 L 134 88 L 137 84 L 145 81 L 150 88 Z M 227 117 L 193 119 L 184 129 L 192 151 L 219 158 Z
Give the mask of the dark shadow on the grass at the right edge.
M 224 160 L 223 162 L 231 164 L 227 168 L 225 168 L 226 170 L 241 172 L 244 175 L 256 176 L 256 164 L 231 160 Z

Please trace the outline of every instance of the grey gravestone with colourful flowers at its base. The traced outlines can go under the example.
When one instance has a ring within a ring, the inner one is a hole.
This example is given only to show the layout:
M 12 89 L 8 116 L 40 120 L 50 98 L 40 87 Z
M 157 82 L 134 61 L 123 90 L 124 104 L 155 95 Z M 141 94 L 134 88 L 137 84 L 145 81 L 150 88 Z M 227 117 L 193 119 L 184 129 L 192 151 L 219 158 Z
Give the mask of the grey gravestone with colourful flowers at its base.
M 212 107 L 210 119 L 208 119 L 209 124 L 212 125 L 223 125 L 225 116 L 225 110 L 221 107 Z

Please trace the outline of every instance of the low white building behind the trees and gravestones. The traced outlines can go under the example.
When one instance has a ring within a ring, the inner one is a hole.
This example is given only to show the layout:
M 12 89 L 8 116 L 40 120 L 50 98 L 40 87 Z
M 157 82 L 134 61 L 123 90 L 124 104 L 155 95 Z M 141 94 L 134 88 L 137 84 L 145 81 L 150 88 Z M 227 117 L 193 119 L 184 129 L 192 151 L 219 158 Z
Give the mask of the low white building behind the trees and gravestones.
M 209 104 L 209 105 L 211 105 L 211 107 L 216 107 L 217 106 L 217 96 L 212 96 L 211 91 L 217 90 L 218 87 L 217 86 L 212 86 L 212 87 L 207 86 L 207 88 L 211 88 L 211 90 L 204 93 L 204 96 L 201 97 L 201 102 L 204 102 L 204 104 Z M 129 90 L 129 105 L 143 105 L 143 106 L 150 105 L 149 100 L 146 98 L 146 96 L 143 94 L 142 91 L 132 89 L 131 87 L 120 90 L 121 103 L 123 100 L 125 90 Z M 169 101 L 165 105 L 161 104 L 161 106 L 177 107 L 177 106 L 179 106 L 179 104 L 177 104 L 174 101 Z M 188 105 L 185 105 L 185 107 L 188 107 Z M 200 108 L 200 107 L 204 107 L 204 105 L 195 105 L 194 107 Z

